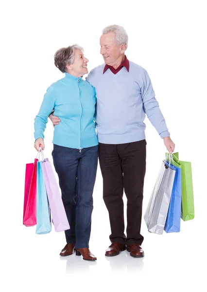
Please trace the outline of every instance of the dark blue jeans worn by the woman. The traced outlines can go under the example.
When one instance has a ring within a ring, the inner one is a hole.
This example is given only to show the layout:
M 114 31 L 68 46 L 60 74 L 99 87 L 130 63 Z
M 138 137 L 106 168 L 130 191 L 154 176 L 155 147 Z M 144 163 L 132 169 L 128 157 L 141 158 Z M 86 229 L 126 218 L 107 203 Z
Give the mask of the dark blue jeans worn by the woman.
M 89 247 L 98 146 L 80 152 L 54 144 L 52 158 L 70 225 L 65 231 L 66 241 L 75 243 L 76 248 Z

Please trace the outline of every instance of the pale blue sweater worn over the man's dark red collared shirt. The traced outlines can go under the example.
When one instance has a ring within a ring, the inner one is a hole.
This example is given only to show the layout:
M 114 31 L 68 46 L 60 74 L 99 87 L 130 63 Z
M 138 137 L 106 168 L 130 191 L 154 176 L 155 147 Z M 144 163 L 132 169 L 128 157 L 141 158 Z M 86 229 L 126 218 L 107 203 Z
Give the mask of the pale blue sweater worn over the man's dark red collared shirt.
M 96 89 L 99 142 L 122 144 L 145 139 L 146 114 L 161 138 L 170 136 L 146 70 L 129 61 L 129 72 L 123 67 L 117 74 L 110 69 L 103 74 L 104 65 L 86 77 Z

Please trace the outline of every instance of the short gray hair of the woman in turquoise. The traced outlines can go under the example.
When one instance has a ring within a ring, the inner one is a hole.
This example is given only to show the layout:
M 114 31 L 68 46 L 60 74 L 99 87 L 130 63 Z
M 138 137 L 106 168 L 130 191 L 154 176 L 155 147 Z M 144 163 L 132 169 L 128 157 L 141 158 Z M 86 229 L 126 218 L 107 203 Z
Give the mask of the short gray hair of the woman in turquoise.
M 82 53 L 84 49 L 77 44 L 69 46 L 67 48 L 61 48 L 54 54 L 54 65 L 62 72 L 67 72 L 68 65 L 74 63 L 75 49 L 80 50 Z

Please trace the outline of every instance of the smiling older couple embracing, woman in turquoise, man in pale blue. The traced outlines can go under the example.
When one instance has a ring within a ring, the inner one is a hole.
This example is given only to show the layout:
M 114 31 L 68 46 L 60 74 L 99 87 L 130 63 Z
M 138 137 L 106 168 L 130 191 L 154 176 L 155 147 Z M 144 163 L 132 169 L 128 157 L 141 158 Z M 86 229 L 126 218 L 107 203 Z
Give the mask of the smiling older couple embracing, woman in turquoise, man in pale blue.
M 111 245 L 105 256 L 117 256 L 124 250 L 133 257 L 144 256 L 140 226 L 146 165 L 145 115 L 170 153 L 174 143 L 150 77 L 145 69 L 127 59 L 127 45 L 123 27 L 104 28 L 100 38 L 104 64 L 94 68 L 86 81 L 82 77 L 88 73 L 88 59 L 82 47 L 69 46 L 54 55 L 54 64 L 65 77 L 45 93 L 35 117 L 35 148 L 45 147 L 44 130 L 50 117 L 54 125 L 52 158 L 70 225 L 60 256 L 72 255 L 75 250 L 83 259 L 97 259 L 89 250 L 89 238 L 98 157 L 111 226 Z M 126 236 L 123 190 L 127 198 Z

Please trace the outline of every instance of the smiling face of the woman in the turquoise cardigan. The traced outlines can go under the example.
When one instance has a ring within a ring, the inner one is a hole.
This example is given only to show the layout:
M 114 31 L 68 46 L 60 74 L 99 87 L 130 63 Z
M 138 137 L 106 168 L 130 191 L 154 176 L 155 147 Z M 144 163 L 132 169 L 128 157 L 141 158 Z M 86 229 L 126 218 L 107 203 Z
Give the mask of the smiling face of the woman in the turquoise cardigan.
M 81 77 L 84 74 L 87 74 L 87 62 L 88 59 L 86 59 L 84 54 L 80 50 L 75 49 L 74 62 L 69 66 L 69 73 L 76 77 Z

